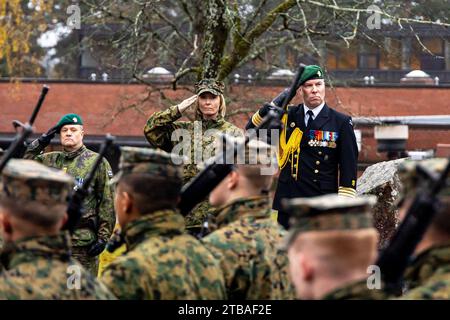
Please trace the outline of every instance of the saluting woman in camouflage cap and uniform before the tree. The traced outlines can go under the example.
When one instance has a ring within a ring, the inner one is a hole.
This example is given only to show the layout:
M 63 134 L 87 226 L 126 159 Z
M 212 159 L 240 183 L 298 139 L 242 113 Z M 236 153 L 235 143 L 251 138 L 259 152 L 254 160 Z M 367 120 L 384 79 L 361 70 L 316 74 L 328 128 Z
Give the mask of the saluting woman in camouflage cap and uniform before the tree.
M 175 152 L 179 145 L 180 135 L 190 138 L 190 161 L 183 167 L 183 184 L 191 180 L 199 172 L 199 164 L 214 155 L 217 132 L 226 132 L 233 136 L 242 135 L 242 131 L 225 120 L 226 105 L 223 96 L 224 84 L 214 79 L 203 79 L 195 85 L 195 95 L 178 105 L 150 116 L 144 127 L 144 134 L 150 145 L 166 152 Z M 194 121 L 178 121 L 195 105 Z M 184 129 L 184 130 L 181 130 Z M 210 130 L 210 131 L 208 131 Z M 217 132 L 214 132 L 216 130 Z M 209 134 L 208 134 L 209 132 Z M 189 156 L 188 154 L 184 154 Z M 210 212 L 208 203 L 202 202 L 186 216 L 186 226 L 196 232 Z

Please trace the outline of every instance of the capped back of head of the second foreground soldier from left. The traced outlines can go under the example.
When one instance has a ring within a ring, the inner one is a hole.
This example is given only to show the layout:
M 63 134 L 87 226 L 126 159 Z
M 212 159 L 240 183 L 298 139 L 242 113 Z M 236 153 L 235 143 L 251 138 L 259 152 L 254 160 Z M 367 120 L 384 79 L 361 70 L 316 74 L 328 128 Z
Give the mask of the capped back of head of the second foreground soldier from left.
M 122 147 L 116 192 L 130 194 L 141 214 L 175 209 L 182 187 L 183 158 L 148 148 Z

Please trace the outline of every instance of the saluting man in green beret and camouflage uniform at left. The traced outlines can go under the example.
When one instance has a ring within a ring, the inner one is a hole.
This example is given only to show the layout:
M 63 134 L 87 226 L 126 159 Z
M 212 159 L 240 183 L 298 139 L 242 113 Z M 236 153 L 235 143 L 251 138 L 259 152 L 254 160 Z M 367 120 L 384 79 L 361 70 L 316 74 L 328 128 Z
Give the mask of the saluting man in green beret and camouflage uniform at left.
M 63 151 L 43 153 L 56 133 L 61 135 Z M 67 172 L 75 178 L 76 185 L 81 186 L 98 155 L 86 148 L 83 136 L 80 116 L 67 114 L 55 127 L 31 143 L 25 158 Z M 113 190 L 108 184 L 111 177 L 111 166 L 103 159 L 92 182 L 92 192 L 84 200 L 85 213 L 72 235 L 73 257 L 94 275 L 98 272 L 98 255 L 105 248 L 116 221 Z

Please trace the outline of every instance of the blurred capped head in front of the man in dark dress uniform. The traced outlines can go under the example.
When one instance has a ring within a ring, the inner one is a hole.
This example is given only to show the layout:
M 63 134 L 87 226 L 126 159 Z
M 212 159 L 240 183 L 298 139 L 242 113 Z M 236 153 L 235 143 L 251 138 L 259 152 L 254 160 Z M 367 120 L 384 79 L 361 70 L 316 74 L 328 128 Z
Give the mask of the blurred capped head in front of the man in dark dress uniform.
M 376 258 L 378 233 L 371 208 L 375 197 L 325 195 L 284 202 L 292 214 L 284 247 L 301 251 L 329 276 L 365 271 Z

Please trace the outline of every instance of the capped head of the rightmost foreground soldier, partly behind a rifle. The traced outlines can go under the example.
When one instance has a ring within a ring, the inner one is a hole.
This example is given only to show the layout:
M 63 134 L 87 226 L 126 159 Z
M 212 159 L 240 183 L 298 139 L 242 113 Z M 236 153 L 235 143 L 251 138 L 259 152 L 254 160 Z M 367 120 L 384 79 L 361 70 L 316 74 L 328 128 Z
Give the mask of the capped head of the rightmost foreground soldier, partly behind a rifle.
M 434 176 L 440 175 L 447 166 L 448 160 L 445 158 L 433 158 L 422 161 L 405 161 L 399 166 L 398 172 L 402 183 L 402 198 L 408 206 L 413 198 L 426 188 L 430 188 L 431 184 L 425 177 L 427 174 Z M 419 167 L 420 166 L 420 167 Z M 424 173 L 423 168 L 426 170 Z M 448 235 L 450 238 L 450 177 L 447 177 L 447 185 L 439 193 L 440 207 L 430 225 L 431 229 L 441 234 Z M 408 208 L 403 208 L 408 209 Z

